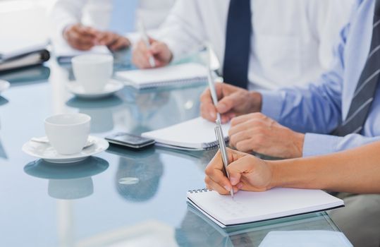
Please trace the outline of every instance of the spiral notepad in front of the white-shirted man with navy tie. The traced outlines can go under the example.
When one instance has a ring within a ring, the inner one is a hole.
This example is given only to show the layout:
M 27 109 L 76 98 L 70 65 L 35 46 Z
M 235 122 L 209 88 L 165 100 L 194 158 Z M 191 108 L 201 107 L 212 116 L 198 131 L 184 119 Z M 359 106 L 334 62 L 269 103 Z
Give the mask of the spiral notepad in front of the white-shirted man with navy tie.
M 116 72 L 116 78 L 135 88 L 156 88 L 166 85 L 190 84 L 207 80 L 207 68 L 189 63 Z

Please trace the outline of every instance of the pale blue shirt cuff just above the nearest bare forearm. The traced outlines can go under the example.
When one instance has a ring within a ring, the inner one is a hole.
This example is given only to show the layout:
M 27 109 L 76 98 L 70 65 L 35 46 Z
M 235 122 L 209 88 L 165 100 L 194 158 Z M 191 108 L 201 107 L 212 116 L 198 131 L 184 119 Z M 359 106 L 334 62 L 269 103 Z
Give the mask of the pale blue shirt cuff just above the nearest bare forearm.
M 306 133 L 302 157 L 328 155 L 331 152 L 335 152 L 341 138 L 336 135 Z

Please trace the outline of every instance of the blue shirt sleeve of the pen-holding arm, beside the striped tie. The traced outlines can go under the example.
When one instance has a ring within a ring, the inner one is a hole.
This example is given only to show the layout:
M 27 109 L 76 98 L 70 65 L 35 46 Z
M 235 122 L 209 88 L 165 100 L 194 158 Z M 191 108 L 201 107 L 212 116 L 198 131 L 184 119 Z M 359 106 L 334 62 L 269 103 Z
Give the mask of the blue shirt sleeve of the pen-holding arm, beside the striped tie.
M 302 87 L 262 91 L 262 113 L 294 131 L 331 133 L 341 123 L 344 47 L 349 27 L 341 31 L 331 71 Z

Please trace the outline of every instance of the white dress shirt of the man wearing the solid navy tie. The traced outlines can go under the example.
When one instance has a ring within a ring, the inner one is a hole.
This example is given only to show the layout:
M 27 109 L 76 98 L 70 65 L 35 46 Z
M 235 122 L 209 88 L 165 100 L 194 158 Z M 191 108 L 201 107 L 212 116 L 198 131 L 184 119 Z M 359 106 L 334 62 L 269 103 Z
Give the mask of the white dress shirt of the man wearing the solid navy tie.
M 210 42 L 223 64 L 229 0 L 179 0 L 159 38 L 174 59 Z M 353 0 L 251 0 L 250 89 L 302 85 L 329 68 Z M 223 68 L 223 66 L 221 66 Z

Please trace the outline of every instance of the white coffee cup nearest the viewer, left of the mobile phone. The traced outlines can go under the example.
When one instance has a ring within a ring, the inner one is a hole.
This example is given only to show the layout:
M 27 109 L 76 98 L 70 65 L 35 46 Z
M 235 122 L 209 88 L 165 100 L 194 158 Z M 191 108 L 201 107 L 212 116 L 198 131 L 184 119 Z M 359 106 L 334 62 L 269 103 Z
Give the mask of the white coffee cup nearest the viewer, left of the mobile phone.
M 45 119 L 49 143 L 61 155 L 80 152 L 90 134 L 91 117 L 86 114 L 58 114 Z

